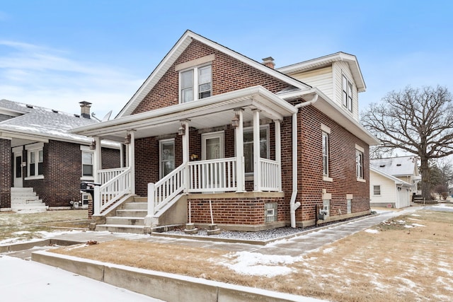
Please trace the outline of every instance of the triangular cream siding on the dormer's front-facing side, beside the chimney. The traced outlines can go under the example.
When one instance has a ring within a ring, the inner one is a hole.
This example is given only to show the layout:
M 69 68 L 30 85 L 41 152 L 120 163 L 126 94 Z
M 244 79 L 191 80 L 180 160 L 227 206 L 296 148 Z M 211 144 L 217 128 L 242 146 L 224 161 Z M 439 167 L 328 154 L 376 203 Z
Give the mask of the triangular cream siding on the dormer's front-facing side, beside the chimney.
M 291 74 L 291 76 L 294 79 L 302 81 L 311 87 L 318 88 L 333 100 L 333 81 L 331 66 L 312 71 L 300 72 L 298 74 Z

